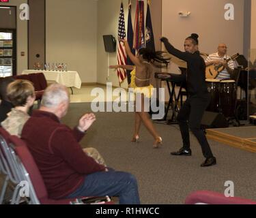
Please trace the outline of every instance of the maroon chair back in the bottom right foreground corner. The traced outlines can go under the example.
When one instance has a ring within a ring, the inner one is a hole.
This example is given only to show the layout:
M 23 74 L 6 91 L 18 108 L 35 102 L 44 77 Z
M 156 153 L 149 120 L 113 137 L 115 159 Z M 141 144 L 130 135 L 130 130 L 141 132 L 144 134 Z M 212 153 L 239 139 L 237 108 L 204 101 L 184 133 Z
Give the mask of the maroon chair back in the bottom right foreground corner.
M 214 191 L 195 191 L 186 197 L 185 204 L 256 204 L 256 201 L 243 198 L 227 198 Z

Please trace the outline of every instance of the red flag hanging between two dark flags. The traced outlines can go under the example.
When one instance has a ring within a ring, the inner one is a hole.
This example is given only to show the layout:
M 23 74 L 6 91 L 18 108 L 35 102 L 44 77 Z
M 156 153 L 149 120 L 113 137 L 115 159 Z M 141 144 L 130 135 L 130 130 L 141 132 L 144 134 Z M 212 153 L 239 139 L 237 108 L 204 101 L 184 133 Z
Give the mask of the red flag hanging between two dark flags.
M 145 48 L 144 1 L 137 0 L 137 9 L 134 22 L 133 48 Z

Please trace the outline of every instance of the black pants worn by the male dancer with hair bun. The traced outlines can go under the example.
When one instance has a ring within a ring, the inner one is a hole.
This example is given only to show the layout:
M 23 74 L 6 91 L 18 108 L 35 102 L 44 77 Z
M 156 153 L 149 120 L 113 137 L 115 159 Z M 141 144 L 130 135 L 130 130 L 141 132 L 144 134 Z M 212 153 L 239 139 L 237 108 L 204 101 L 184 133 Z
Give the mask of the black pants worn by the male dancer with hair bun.
M 201 145 L 205 158 L 213 157 L 210 145 L 208 144 L 203 129 L 201 129 L 203 112 L 208 107 L 209 103 L 210 93 L 189 96 L 177 115 L 184 149 L 190 149 L 189 128 Z

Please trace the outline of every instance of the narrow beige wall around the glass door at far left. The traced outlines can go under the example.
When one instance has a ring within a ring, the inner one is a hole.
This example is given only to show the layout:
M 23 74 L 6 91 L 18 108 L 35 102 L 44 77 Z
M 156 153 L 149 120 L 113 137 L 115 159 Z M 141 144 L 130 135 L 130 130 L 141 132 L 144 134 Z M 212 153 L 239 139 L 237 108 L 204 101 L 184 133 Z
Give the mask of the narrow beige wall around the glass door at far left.
M 20 20 L 20 5 L 27 3 L 27 0 L 10 0 L 9 3 L 0 3 L 0 5 L 16 6 L 17 12 L 17 73 L 21 74 L 27 69 L 27 20 Z M 25 52 L 25 56 L 21 56 L 20 52 Z

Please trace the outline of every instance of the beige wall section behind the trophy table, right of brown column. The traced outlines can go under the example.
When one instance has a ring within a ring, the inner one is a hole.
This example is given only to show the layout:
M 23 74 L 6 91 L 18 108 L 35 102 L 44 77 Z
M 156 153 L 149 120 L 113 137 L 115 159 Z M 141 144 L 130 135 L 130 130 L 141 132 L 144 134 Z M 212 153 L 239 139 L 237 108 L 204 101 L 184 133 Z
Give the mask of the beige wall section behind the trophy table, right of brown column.
M 97 1 L 46 0 L 46 62 L 67 63 L 97 81 Z

